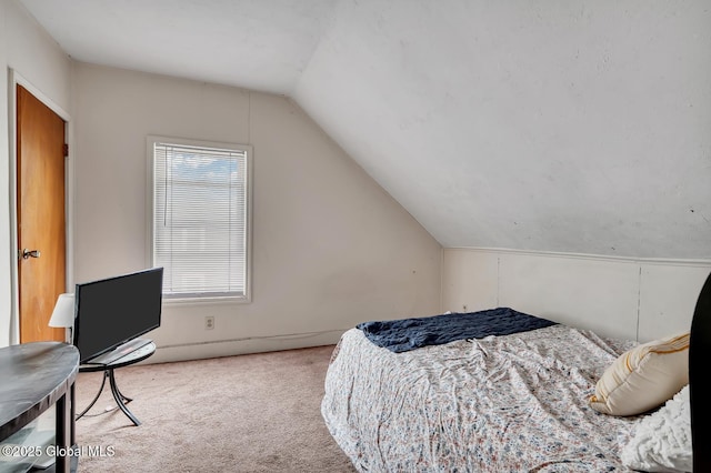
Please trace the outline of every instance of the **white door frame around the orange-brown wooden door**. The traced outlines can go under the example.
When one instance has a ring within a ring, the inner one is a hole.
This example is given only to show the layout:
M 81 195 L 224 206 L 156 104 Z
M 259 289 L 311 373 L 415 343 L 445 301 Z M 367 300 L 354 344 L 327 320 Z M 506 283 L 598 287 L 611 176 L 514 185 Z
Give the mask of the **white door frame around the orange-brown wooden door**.
M 8 80 L 8 108 L 9 117 L 9 141 L 10 141 L 10 258 L 12 261 L 10 284 L 11 284 L 11 314 L 10 314 L 10 344 L 20 343 L 20 311 L 18 310 L 18 301 L 20 298 L 20 288 L 18 285 L 18 211 L 17 211 L 17 192 L 18 192 L 18 149 L 17 149 L 17 87 L 22 85 L 34 95 L 39 101 L 47 105 L 51 111 L 57 113 L 64 120 L 64 142 L 69 144 L 69 154 L 64 158 L 64 231 L 67 258 L 64 263 L 66 292 L 70 292 L 70 288 L 74 286 L 74 254 L 73 254 L 73 195 L 74 195 L 74 143 L 73 143 L 73 124 L 70 114 L 57 104 L 52 99 L 38 89 L 32 82 L 23 78 L 16 70 L 10 69 Z

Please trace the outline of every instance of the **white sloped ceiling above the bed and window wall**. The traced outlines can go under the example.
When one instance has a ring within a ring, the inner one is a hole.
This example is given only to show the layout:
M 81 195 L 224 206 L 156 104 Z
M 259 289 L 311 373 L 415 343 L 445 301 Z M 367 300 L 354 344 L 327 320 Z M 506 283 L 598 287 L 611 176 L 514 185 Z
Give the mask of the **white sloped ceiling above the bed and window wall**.
M 711 259 L 708 0 L 22 0 L 72 58 L 292 98 L 443 246 Z

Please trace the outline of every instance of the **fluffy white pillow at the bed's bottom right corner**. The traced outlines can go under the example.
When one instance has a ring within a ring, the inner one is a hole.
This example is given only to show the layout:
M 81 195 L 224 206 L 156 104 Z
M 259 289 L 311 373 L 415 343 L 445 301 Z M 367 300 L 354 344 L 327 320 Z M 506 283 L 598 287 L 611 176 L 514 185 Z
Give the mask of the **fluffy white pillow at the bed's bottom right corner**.
M 642 419 L 620 459 L 625 466 L 645 472 L 693 470 L 688 384 L 662 409 Z

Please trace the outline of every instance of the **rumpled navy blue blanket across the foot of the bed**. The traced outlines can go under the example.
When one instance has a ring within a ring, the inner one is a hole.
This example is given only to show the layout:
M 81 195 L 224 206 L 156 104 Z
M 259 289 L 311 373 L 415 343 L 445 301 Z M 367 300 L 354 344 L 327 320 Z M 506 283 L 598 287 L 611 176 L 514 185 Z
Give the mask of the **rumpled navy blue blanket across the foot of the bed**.
M 509 308 L 425 318 L 363 322 L 356 325 L 377 344 L 400 353 L 462 339 L 509 335 L 555 324 Z

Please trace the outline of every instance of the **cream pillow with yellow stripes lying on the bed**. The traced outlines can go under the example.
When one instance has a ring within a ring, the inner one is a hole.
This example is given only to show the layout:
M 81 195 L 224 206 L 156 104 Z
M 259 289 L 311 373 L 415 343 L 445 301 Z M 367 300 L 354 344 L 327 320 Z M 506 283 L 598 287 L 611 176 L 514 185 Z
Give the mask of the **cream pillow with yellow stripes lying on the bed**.
M 590 406 L 611 415 L 635 415 L 662 405 L 689 383 L 689 332 L 642 343 L 602 374 Z

